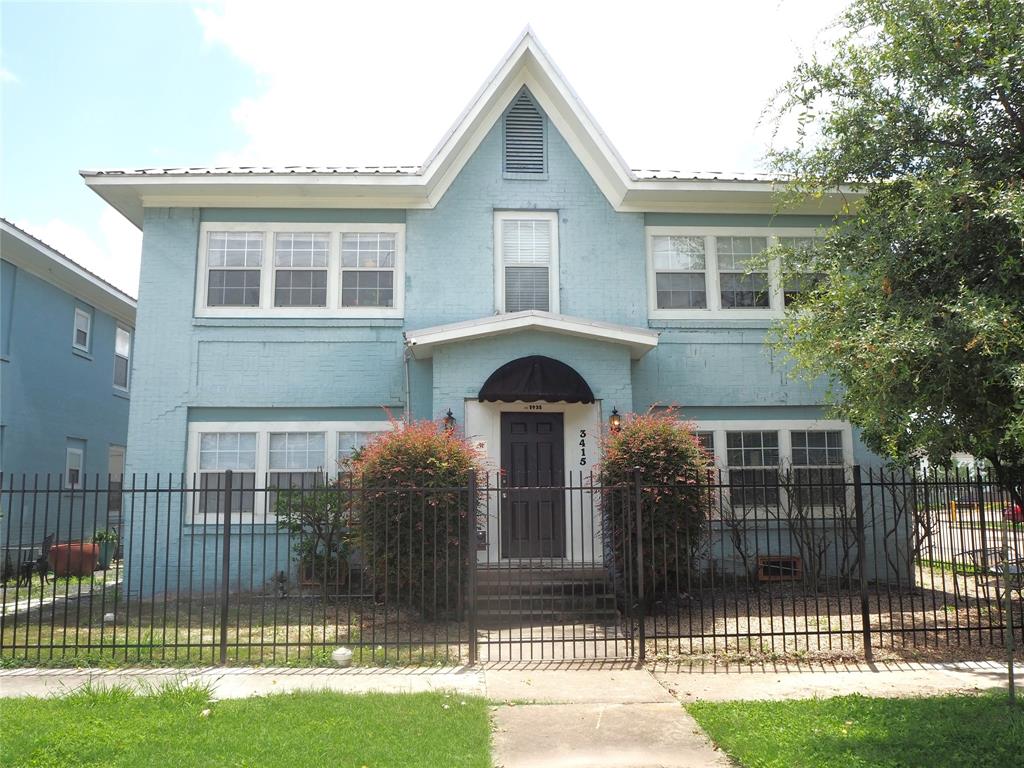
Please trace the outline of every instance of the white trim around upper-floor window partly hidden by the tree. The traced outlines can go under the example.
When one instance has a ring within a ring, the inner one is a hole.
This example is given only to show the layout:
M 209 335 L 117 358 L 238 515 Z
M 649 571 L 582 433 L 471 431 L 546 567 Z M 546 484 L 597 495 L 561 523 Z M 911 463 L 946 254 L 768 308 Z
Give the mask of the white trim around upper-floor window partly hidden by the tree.
M 705 239 L 705 290 L 708 306 L 705 309 L 659 309 L 654 270 L 655 236 L 689 236 Z M 764 319 L 781 317 L 785 314 L 782 283 L 777 259 L 768 265 L 769 307 L 751 309 L 722 308 L 722 292 L 719 283 L 717 238 L 753 237 L 767 238 L 768 247 L 778 244 L 779 238 L 820 238 L 822 229 L 808 227 L 770 226 L 648 226 L 646 227 L 647 250 L 647 316 L 650 319 L 690 319 L 694 317 L 717 319 Z

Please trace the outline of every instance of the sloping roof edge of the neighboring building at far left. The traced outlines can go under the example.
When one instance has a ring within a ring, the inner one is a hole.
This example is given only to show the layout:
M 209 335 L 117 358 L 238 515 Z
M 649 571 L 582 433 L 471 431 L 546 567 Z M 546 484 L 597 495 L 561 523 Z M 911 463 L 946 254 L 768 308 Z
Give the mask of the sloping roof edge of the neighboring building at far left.
M 134 298 L 4 218 L 0 218 L 0 256 L 134 327 Z

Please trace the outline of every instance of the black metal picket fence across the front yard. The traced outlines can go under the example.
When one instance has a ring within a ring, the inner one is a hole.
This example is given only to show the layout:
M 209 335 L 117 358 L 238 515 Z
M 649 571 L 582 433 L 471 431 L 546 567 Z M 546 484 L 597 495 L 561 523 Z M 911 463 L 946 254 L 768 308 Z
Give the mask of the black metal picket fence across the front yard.
M 716 472 L 696 525 L 639 475 L 61 480 L 0 478 L 0 665 L 990 656 L 1024 626 L 1024 516 L 966 475 Z

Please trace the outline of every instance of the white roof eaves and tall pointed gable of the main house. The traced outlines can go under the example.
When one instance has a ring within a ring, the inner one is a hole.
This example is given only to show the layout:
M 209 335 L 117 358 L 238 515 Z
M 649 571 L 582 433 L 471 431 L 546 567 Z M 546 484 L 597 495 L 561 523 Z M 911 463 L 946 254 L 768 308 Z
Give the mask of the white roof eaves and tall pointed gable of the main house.
M 150 168 L 81 174 L 140 227 L 147 206 L 433 208 L 523 86 L 617 211 L 777 212 L 777 178 L 631 170 L 529 28 L 422 166 Z M 836 213 L 843 200 L 837 194 L 787 212 Z

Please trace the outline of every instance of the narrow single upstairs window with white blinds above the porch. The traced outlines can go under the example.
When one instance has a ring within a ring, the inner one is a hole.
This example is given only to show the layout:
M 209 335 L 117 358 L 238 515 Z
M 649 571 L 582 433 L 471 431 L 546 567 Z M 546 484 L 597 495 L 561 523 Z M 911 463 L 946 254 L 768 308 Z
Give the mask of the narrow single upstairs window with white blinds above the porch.
M 499 311 L 558 311 L 558 214 L 496 212 L 495 254 Z

